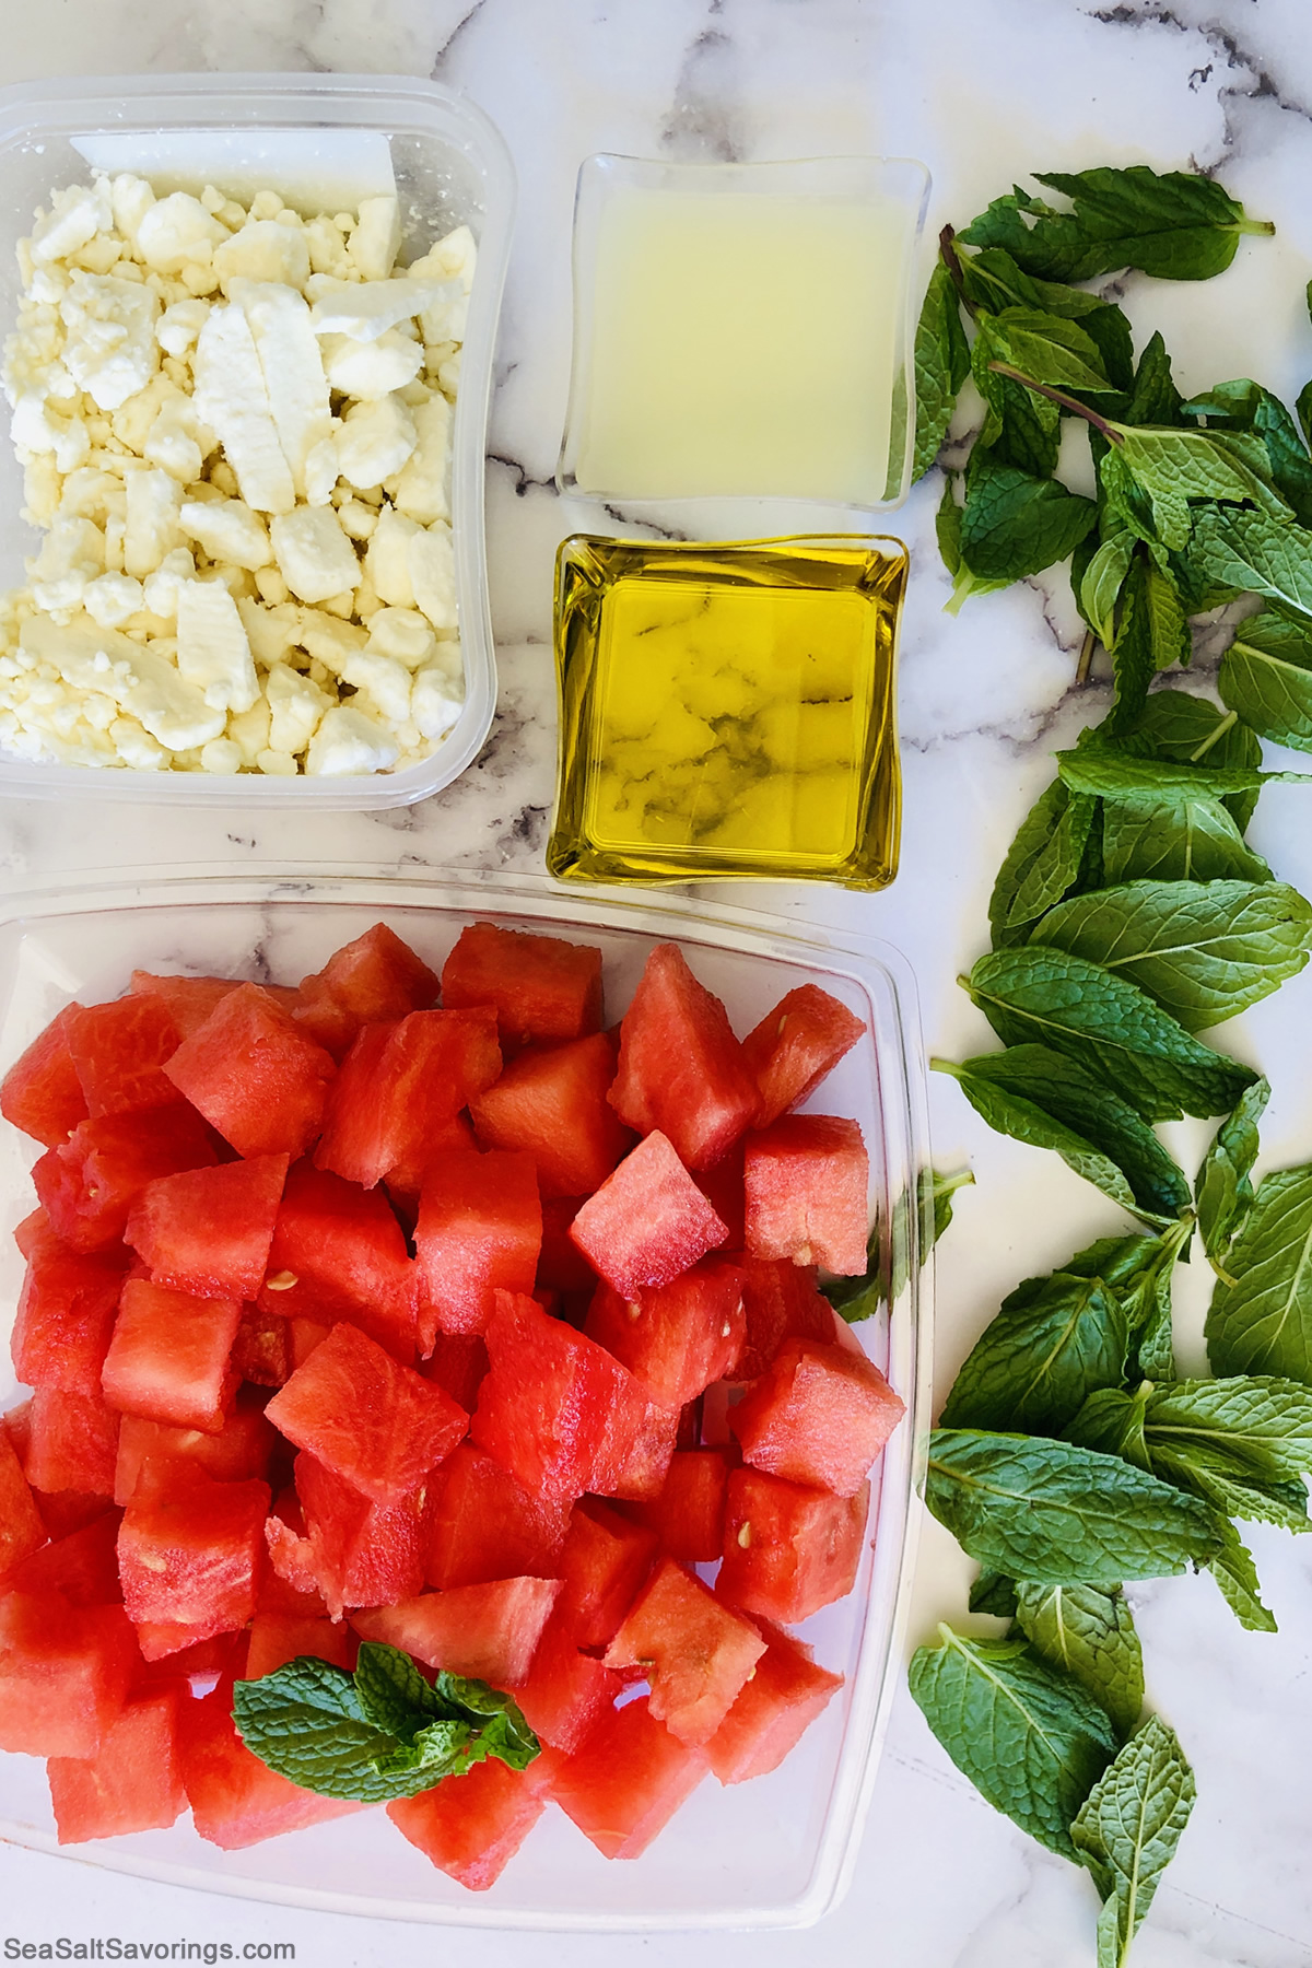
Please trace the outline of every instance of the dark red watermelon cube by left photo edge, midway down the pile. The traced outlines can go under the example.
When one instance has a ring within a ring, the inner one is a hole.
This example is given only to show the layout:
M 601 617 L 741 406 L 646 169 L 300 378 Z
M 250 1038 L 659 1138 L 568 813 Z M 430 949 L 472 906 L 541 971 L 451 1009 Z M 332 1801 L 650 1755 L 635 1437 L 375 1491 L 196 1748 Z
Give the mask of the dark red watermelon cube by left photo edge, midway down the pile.
M 28 1387 L 100 1393 L 124 1267 L 112 1252 L 79 1252 L 43 1230 L 28 1258 L 10 1350 Z

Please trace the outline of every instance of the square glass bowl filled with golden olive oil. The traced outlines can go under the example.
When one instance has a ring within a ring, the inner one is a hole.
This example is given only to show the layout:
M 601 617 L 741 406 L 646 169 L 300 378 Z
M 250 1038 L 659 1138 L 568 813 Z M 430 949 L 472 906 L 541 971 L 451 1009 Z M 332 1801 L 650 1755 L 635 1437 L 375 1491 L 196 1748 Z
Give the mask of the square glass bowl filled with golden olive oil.
M 871 533 L 557 555 L 563 882 L 897 874 L 907 549 Z

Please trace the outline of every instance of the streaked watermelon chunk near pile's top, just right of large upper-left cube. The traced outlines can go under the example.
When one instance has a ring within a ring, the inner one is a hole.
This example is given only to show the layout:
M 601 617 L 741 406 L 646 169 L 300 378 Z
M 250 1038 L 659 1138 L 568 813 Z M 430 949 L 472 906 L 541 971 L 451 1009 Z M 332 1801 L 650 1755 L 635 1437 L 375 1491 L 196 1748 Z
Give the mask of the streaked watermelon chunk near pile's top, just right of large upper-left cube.
M 490 1006 L 366 1025 L 332 1082 L 315 1165 L 366 1189 L 384 1175 L 419 1189 L 454 1116 L 500 1071 Z

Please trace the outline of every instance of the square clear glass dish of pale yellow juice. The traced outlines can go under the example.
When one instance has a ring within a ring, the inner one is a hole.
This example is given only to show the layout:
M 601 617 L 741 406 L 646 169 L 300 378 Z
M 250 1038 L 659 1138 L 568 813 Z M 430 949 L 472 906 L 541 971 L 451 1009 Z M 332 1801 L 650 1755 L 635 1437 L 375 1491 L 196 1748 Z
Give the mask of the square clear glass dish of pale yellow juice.
M 588 157 L 561 490 L 901 504 L 926 201 L 911 157 Z

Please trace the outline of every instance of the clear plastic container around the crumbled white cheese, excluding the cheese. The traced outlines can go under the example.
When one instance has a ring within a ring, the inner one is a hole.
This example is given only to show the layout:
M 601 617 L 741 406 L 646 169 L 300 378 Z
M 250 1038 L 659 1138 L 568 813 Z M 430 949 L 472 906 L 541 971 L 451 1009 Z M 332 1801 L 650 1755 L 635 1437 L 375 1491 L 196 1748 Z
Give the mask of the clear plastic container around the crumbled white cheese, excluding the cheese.
M 126 75 L 61 77 L 0 91 L 0 337 L 18 313 L 14 246 L 31 230 L 37 205 L 51 191 L 87 183 L 90 163 L 79 140 L 132 134 L 144 144 L 205 132 L 209 150 L 222 134 L 248 140 L 240 163 L 250 181 L 252 157 L 268 159 L 268 183 L 279 189 L 279 161 L 303 144 L 285 132 L 319 136 L 325 148 L 327 199 L 360 167 L 358 132 L 378 132 L 389 146 L 401 197 L 401 260 L 423 254 L 452 226 L 468 224 L 478 240 L 454 415 L 452 531 L 456 604 L 464 651 L 464 708 L 445 744 L 415 766 L 360 777 L 279 779 L 264 773 L 212 777 L 193 771 L 37 766 L 0 752 L 0 793 L 37 799 L 132 799 L 197 807 L 403 807 L 427 799 L 464 771 L 478 754 L 496 708 L 496 655 L 488 606 L 484 545 L 484 449 L 492 396 L 492 352 L 509 260 L 515 177 L 509 154 L 482 110 L 439 83 L 403 75 Z M 165 146 L 167 148 L 167 146 Z M 126 155 L 132 155 L 128 146 Z M 126 167 L 126 157 L 116 167 Z M 167 175 L 167 173 L 165 173 Z M 177 183 L 173 173 L 173 183 Z M 305 183 L 303 167 L 297 185 Z M 220 185 L 222 189 L 222 185 Z M 366 185 L 376 189 L 376 185 Z M 297 201 L 299 203 L 299 201 Z M 338 207 L 340 209 L 340 207 Z M 24 557 L 37 533 L 20 520 L 22 470 L 8 437 L 0 441 L 0 588 L 22 586 Z

